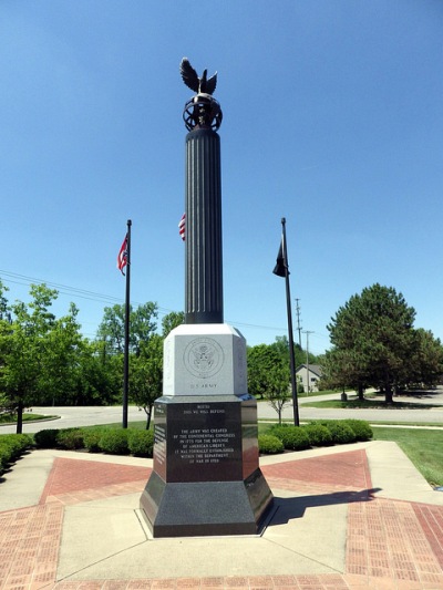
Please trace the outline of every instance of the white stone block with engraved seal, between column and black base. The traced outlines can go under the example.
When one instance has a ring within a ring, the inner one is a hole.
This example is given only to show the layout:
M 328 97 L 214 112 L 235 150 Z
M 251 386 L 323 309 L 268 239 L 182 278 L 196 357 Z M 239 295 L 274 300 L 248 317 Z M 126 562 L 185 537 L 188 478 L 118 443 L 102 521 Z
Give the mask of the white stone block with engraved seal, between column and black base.
M 163 395 L 248 393 L 246 340 L 227 323 L 182 324 L 164 343 Z

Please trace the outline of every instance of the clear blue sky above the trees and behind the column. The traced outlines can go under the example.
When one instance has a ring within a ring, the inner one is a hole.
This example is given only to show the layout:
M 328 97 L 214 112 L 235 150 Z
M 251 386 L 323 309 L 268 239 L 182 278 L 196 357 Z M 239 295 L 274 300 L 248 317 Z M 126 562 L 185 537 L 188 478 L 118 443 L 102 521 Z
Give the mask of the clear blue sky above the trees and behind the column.
M 324 352 L 375 282 L 443 339 L 442 30 L 441 0 L 2 0 L 9 300 L 45 282 L 94 338 L 131 219 L 132 303 L 184 309 L 187 56 L 218 72 L 225 321 L 249 345 L 287 334 L 285 217 L 296 342 Z

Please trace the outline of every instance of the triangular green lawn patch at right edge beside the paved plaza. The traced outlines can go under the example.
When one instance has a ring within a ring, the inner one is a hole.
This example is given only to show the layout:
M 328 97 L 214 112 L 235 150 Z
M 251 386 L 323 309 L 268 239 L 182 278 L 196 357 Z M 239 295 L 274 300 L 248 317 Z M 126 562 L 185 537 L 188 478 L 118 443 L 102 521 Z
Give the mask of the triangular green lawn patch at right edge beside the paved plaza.
M 432 486 L 443 486 L 443 429 L 372 428 L 374 441 L 394 441 Z

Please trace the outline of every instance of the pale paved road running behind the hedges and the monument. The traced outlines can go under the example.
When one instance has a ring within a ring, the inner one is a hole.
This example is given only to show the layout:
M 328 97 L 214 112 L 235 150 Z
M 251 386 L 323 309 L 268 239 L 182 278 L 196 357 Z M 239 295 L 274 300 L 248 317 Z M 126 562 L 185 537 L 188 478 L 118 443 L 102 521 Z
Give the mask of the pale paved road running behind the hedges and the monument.
M 305 404 L 313 401 L 321 401 L 327 398 L 340 398 L 340 394 L 329 396 L 311 396 L 301 397 L 299 403 L 300 421 L 307 420 L 337 420 L 337 418 L 358 418 L 367 420 L 368 422 L 429 422 L 443 424 L 443 389 L 429 394 L 423 394 L 411 398 L 396 398 L 401 401 L 409 401 L 423 406 L 423 410 L 333 410 L 321 407 L 307 407 Z M 430 407 L 430 405 L 439 405 L 439 407 Z M 32 424 L 24 424 L 24 433 L 35 433 L 43 428 L 69 428 L 73 426 L 91 426 L 94 424 L 112 424 L 122 422 L 122 408 L 120 406 L 103 407 L 103 406 L 87 406 L 87 407 L 33 407 L 37 414 L 58 415 L 59 420 L 52 422 L 35 422 Z M 258 403 L 258 417 L 261 420 L 276 420 L 276 411 L 266 402 Z M 288 420 L 293 418 L 292 405 L 289 404 L 284 410 L 284 417 Z M 144 421 L 146 414 L 138 411 L 137 407 L 131 406 L 128 410 L 128 422 Z M 0 426 L 0 434 L 14 433 L 16 426 Z

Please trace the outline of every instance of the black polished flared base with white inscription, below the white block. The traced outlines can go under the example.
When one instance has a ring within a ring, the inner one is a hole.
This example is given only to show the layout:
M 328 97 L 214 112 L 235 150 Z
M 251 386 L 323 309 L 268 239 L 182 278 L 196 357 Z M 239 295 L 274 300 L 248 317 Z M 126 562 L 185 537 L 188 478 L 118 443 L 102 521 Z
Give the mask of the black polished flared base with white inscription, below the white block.
M 272 504 L 250 395 L 161 397 L 141 508 L 154 537 L 256 535 Z

